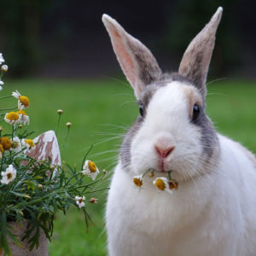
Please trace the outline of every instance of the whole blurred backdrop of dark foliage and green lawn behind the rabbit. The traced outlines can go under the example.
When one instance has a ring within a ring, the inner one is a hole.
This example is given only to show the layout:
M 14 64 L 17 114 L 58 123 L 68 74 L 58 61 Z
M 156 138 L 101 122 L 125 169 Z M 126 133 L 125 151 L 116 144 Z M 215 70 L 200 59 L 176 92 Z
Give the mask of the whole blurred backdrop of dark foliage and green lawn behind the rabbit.
M 137 117 L 130 85 L 121 73 L 102 14 L 113 16 L 153 52 L 163 71 L 177 71 L 190 40 L 218 6 L 224 7 L 208 76 L 207 113 L 218 131 L 256 152 L 256 15 L 254 1 L 9 0 L 0 2 L 0 52 L 9 65 L 2 94 L 29 96 L 35 135 L 53 129 L 61 108 L 58 139 L 62 160 L 80 166 L 94 147 L 95 160 L 111 177 L 119 144 Z M 15 99 L 2 106 L 12 107 Z M 68 143 L 67 127 L 71 121 Z M 108 187 L 109 178 L 102 184 Z M 88 195 L 89 196 L 89 195 Z M 85 232 L 78 209 L 55 221 L 49 255 L 106 255 L 106 194 L 89 205 L 95 226 Z M 88 198 L 89 199 L 89 198 Z

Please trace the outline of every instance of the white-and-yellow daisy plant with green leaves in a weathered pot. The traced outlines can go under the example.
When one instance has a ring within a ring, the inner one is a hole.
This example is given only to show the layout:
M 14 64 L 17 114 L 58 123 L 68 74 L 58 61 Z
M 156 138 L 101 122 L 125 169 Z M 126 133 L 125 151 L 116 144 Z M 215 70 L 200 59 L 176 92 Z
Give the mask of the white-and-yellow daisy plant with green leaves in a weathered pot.
M 3 61 L 0 54 L 0 65 Z M 6 65 L 1 68 L 2 85 L 7 69 Z M 44 256 L 48 255 L 48 241 L 57 212 L 66 213 L 72 205 L 78 207 L 88 226 L 86 201 L 93 203 L 96 199 L 86 194 L 103 190 L 94 189 L 94 184 L 102 181 L 105 172 L 96 179 L 99 173 L 96 164 L 86 160 L 91 148 L 84 155 L 81 169 L 68 164 L 61 166 L 55 132 L 47 131 L 31 139 L 26 113 L 30 100 L 17 90 L 12 96 L 18 101 L 17 109 L 0 113 L 0 123 L 9 124 L 9 129 L 0 127 L 0 255 Z M 2 96 L 0 100 L 5 97 L 9 96 Z M 57 113 L 60 120 L 62 110 Z M 68 131 L 70 126 L 71 123 L 67 123 Z

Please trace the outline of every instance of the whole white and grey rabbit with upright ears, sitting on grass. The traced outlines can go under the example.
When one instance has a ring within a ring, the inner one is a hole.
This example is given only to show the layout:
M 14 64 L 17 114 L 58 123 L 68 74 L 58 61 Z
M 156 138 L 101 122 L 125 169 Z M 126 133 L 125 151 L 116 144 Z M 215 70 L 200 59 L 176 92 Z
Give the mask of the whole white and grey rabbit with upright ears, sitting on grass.
M 218 134 L 205 113 L 206 80 L 223 9 L 191 41 L 177 73 L 108 15 L 102 21 L 134 90 L 137 120 L 125 135 L 106 207 L 110 256 L 256 255 L 256 160 Z M 154 170 L 178 189 L 160 191 Z M 154 179 L 153 178 L 153 179 Z

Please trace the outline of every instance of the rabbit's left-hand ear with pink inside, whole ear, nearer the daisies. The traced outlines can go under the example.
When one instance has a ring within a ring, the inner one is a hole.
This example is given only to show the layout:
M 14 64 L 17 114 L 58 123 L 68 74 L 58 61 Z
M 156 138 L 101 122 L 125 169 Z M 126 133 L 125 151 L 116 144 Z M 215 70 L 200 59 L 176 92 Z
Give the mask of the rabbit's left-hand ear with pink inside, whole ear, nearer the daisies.
M 160 78 L 161 70 L 149 49 L 125 32 L 108 15 L 102 15 L 120 66 L 138 98 L 143 87 Z

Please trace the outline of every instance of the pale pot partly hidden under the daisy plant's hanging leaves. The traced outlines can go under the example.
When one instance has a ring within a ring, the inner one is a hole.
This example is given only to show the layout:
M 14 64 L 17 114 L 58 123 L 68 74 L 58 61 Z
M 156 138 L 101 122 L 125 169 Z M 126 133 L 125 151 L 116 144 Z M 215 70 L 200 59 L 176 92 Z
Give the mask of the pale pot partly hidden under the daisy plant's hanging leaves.
M 27 221 L 24 221 L 21 224 L 15 223 L 15 222 L 9 222 L 9 224 L 13 227 L 14 234 L 18 236 L 18 238 L 21 241 L 22 236 L 24 236 L 26 231 L 26 225 Z M 48 256 L 48 239 L 44 235 L 44 231 L 40 230 L 40 236 L 39 236 L 39 247 L 34 247 L 32 251 L 29 251 L 29 244 L 28 241 L 21 241 L 21 244 L 23 247 L 17 247 L 13 241 L 9 242 L 9 248 L 14 256 Z M 3 256 L 3 253 L 1 254 Z

